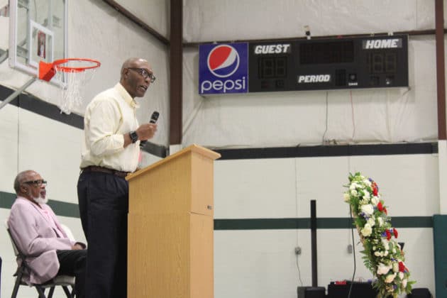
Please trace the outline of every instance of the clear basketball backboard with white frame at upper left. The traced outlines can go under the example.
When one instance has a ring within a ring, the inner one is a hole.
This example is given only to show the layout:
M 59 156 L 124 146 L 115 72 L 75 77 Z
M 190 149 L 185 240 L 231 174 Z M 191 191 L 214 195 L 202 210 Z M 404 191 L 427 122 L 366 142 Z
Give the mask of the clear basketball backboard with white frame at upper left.
M 38 75 L 40 61 L 67 53 L 68 0 L 9 1 L 9 65 Z

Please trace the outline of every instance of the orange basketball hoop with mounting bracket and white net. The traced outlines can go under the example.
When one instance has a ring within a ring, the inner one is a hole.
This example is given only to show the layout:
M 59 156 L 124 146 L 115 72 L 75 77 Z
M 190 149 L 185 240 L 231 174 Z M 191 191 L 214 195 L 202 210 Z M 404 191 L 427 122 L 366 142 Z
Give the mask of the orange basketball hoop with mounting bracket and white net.
M 87 58 L 60 59 L 53 63 L 40 61 L 39 79 L 49 82 L 55 77 L 62 90 L 58 98 L 60 111 L 70 114 L 73 107 L 82 104 L 81 88 L 92 79 L 100 65 L 99 61 Z

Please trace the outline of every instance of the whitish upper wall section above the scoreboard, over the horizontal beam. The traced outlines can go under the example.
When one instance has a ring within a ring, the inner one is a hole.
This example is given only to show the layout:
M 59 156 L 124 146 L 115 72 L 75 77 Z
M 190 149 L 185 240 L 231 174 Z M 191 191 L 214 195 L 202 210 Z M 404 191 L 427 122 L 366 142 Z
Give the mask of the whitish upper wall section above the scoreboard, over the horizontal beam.
M 184 0 L 184 40 L 212 42 L 434 28 L 434 1 Z M 444 15 L 447 8 L 444 6 Z M 447 20 L 445 20 L 447 24 Z

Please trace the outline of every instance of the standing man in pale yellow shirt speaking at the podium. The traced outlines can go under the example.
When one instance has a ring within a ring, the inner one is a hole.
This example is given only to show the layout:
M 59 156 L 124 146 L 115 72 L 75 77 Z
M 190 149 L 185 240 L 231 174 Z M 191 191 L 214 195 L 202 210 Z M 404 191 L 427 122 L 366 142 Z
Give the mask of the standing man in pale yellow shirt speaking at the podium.
M 157 125 L 138 125 L 136 97 L 155 81 L 148 61 L 130 58 L 115 87 L 99 93 L 84 115 L 84 146 L 77 183 L 79 212 L 89 250 L 86 297 L 125 298 L 127 289 L 128 182 L 138 165 L 140 140 Z

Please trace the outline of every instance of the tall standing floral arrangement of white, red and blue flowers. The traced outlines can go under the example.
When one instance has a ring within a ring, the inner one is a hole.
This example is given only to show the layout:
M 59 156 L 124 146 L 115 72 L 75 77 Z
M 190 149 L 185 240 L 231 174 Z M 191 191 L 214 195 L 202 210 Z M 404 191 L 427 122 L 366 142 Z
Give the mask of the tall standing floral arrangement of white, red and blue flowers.
M 404 263 L 404 252 L 397 243 L 396 228 L 391 226 L 387 206 L 380 197 L 377 183 L 359 172 L 349 175 L 345 202 L 351 205 L 354 224 L 363 243 L 363 263 L 374 277 L 373 287 L 379 297 L 399 297 L 412 292 L 410 272 Z

